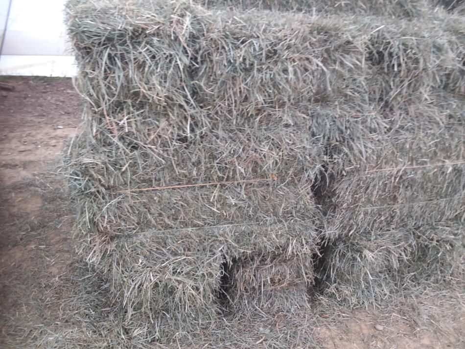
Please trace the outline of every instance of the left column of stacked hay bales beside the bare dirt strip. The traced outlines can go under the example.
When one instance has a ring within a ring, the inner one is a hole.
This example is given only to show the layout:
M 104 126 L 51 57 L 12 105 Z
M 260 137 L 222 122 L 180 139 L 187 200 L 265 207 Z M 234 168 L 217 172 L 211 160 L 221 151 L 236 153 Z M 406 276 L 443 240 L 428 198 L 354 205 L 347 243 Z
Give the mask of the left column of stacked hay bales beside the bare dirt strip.
M 319 89 L 322 72 L 309 66 L 289 79 L 282 70 L 294 70 L 286 47 L 318 54 L 308 43 L 326 37 L 296 41 L 285 23 L 256 36 L 257 24 L 220 22 L 183 1 L 72 1 L 69 9 L 88 101 L 86 131 L 69 157 L 81 253 L 128 318 L 207 321 L 228 278 L 249 278 L 256 294 L 273 278 L 299 282 L 304 303 L 322 225 L 312 184 L 324 152 L 291 100 L 310 103 L 302 91 L 308 79 Z

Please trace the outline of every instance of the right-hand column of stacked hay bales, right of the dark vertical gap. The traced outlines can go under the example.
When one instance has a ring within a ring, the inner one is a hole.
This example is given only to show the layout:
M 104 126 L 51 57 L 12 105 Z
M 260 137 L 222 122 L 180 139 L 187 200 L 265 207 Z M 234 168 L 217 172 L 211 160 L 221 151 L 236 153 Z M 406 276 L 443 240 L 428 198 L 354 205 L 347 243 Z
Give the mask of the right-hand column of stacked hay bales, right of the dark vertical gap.
M 384 26 L 368 40 L 372 117 L 385 127 L 360 117 L 356 147 L 333 148 L 324 239 L 326 293 L 350 304 L 464 276 L 465 33 L 442 21 Z

